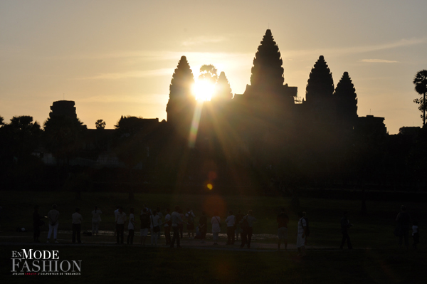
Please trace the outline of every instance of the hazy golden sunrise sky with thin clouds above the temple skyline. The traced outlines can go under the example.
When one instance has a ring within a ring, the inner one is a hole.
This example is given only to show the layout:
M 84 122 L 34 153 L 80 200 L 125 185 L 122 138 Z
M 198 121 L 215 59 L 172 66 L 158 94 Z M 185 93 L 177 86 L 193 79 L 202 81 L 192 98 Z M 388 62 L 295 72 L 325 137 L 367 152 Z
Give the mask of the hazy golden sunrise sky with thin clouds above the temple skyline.
M 352 78 L 358 115 L 385 117 L 395 134 L 422 125 L 412 81 L 427 69 L 426 12 L 426 0 L 1 0 L 0 116 L 43 124 L 65 99 L 88 128 L 163 120 L 181 56 L 195 78 L 213 64 L 241 94 L 270 28 L 298 96 L 323 55 L 334 85 Z

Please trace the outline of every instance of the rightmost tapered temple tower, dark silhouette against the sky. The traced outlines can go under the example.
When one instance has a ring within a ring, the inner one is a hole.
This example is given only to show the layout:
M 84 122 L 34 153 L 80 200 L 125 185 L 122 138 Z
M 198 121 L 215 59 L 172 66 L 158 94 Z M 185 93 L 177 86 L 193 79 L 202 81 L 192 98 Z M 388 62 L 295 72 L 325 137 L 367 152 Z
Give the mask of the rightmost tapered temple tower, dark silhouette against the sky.
M 357 95 L 356 89 L 349 77 L 348 72 L 344 72 L 341 80 L 335 89 L 335 98 L 338 100 L 337 114 L 346 120 L 357 118 Z

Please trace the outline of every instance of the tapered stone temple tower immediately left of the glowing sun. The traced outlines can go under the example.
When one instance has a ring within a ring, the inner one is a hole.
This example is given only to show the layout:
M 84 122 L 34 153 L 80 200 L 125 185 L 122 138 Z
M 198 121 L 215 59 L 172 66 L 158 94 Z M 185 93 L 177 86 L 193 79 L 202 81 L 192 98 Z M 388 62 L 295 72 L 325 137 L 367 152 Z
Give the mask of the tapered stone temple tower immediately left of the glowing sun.
M 191 86 L 194 84 L 193 71 L 185 56 L 181 57 L 178 66 L 172 75 L 171 85 L 169 86 L 169 98 L 186 98 L 191 95 Z

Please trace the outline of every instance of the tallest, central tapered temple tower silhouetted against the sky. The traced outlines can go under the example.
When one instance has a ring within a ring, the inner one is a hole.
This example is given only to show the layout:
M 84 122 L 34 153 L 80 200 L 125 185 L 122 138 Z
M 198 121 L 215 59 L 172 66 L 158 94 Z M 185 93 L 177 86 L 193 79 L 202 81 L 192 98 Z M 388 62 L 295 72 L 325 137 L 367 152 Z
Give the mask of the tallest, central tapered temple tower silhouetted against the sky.
M 254 88 L 282 88 L 284 82 L 282 65 L 279 47 L 268 29 L 253 58 L 251 85 Z

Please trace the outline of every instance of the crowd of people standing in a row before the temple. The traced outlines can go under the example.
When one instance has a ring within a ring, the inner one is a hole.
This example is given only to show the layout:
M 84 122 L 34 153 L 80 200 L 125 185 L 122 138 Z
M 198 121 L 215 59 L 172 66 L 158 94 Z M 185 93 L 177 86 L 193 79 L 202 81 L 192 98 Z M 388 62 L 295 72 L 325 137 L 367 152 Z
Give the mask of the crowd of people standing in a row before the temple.
M 43 225 L 43 218 L 48 219 L 48 240 L 51 242 L 51 237 L 53 236 L 53 242 L 58 243 L 57 234 L 58 234 L 58 224 L 59 224 L 59 211 L 56 204 L 53 204 L 51 211 L 48 212 L 46 217 L 38 214 L 38 206 L 35 206 L 33 212 L 33 228 L 34 234 L 33 238 L 35 242 L 39 242 L 40 237 L 40 227 Z M 227 245 L 233 245 L 236 241 L 239 241 L 239 236 L 241 238 L 241 248 L 247 246 L 251 248 L 251 241 L 253 235 L 253 224 L 256 219 L 253 216 L 253 211 L 249 210 L 248 214 L 242 214 L 241 210 L 238 209 L 237 214 L 233 214 L 233 211 L 228 211 L 228 216 L 225 219 L 226 223 L 226 233 L 227 233 Z M 101 221 L 102 211 L 95 206 L 92 211 L 92 233 L 91 236 L 98 236 L 99 226 Z M 135 218 L 135 209 L 129 209 L 129 217 L 123 211 L 122 206 L 117 206 L 117 209 L 114 211 L 115 216 L 115 236 L 116 243 L 122 244 L 125 239 L 125 226 L 127 224 L 127 244 L 133 244 L 135 229 L 137 228 L 137 219 Z M 310 226 L 305 212 L 298 213 L 298 222 L 297 222 L 297 249 L 299 256 L 305 256 L 305 245 L 307 242 L 307 237 L 310 236 Z M 285 250 L 288 248 L 288 223 L 289 217 L 285 213 L 285 209 L 281 208 L 280 214 L 277 216 L 278 223 L 278 251 L 283 243 Z M 80 214 L 80 209 L 76 208 L 75 212 L 71 215 L 71 221 L 73 226 L 72 241 L 75 243 L 81 243 L 80 233 L 81 233 L 81 223 L 83 221 L 83 216 Z M 406 212 L 406 206 L 401 206 L 401 212 L 396 218 L 396 229 L 394 234 L 399 236 L 399 245 L 402 246 L 405 243 L 406 248 L 408 248 L 408 234 L 410 231 L 411 216 Z M 145 246 L 147 236 L 150 235 L 150 244 L 152 246 L 157 246 L 159 244 L 160 233 L 164 231 L 164 236 L 166 246 L 174 248 L 175 243 L 176 247 L 181 247 L 181 238 L 184 238 L 184 225 L 186 227 L 186 232 L 188 238 L 200 239 L 203 243 L 206 239 L 206 233 L 208 231 L 209 223 L 206 212 L 202 211 L 201 216 L 199 217 L 199 223 L 196 223 L 196 215 L 194 211 L 190 208 L 187 208 L 185 213 L 179 207 L 175 206 L 174 211 L 166 209 L 165 214 L 162 213 L 159 207 L 157 209 L 149 209 L 147 205 L 144 204 L 141 213 L 139 214 L 139 227 L 140 227 L 140 244 Z M 221 217 L 218 214 L 218 211 L 214 212 L 211 221 L 211 232 L 213 235 L 214 246 L 218 245 L 219 233 L 221 232 Z M 352 223 L 349 222 L 347 212 L 343 213 L 341 219 L 341 231 L 342 231 L 342 243 L 340 248 L 344 248 L 345 243 L 349 249 L 352 249 L 352 243 L 350 241 L 348 230 L 352 226 Z M 413 236 L 413 248 L 416 248 L 416 245 L 419 243 L 419 231 L 418 223 L 413 221 L 412 226 L 412 236 Z M 149 234 L 150 233 L 150 234 Z

